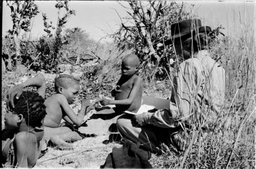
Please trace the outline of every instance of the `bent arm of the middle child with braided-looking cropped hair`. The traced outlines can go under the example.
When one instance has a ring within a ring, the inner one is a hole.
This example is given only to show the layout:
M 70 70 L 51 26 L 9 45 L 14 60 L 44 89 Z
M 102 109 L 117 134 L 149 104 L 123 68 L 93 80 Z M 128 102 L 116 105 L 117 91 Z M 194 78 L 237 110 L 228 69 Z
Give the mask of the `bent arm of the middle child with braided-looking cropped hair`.
M 78 115 L 76 115 L 72 108 L 69 106 L 68 100 L 65 96 L 59 95 L 58 101 L 73 124 L 79 127 L 82 124 L 83 117 L 86 115 L 86 112 L 89 109 L 88 107 L 90 107 L 90 101 L 82 100 L 81 110 Z

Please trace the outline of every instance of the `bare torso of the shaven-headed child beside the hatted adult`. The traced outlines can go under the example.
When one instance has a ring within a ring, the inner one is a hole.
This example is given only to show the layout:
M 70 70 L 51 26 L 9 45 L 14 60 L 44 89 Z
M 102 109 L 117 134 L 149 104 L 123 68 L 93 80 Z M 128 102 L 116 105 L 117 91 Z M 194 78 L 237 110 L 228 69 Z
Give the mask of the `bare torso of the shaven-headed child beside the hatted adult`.
M 125 81 L 126 80 L 126 81 Z M 135 81 L 141 81 L 140 77 L 136 74 L 134 74 L 132 77 L 130 77 L 128 80 L 125 79 L 125 77 L 121 76 L 120 80 L 118 81 L 117 85 L 120 86 L 118 90 L 121 92 L 116 92 L 115 94 L 115 100 L 122 100 L 129 98 L 131 91 L 133 89 L 133 86 L 135 84 Z M 133 100 L 131 105 L 116 105 L 118 110 L 120 111 L 132 111 L 137 112 L 141 106 L 141 96 L 142 96 L 142 86 L 140 85 L 136 95 L 135 99 Z

